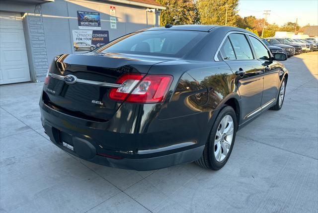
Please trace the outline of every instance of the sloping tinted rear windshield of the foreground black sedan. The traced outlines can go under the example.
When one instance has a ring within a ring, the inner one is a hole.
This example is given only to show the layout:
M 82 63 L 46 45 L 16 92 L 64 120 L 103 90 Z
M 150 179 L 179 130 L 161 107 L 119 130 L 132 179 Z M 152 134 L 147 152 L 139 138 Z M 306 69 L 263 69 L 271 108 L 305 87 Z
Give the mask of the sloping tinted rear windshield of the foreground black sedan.
M 206 34 L 207 32 L 183 30 L 135 32 L 120 37 L 94 52 L 181 57 Z

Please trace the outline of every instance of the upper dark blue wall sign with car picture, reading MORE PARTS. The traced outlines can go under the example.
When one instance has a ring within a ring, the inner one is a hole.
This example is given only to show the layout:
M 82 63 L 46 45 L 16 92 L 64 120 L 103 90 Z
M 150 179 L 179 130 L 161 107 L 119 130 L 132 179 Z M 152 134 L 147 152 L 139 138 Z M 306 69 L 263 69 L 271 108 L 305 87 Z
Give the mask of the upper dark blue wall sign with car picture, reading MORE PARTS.
M 79 29 L 101 29 L 99 12 L 78 11 Z

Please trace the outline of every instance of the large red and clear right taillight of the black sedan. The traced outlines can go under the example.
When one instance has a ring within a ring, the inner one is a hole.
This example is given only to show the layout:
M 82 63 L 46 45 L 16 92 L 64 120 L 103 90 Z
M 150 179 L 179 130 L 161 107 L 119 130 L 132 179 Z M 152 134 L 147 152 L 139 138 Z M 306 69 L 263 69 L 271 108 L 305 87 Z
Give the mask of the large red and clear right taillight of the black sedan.
M 111 89 L 109 98 L 129 103 L 163 102 L 172 82 L 172 76 L 126 74 L 118 79 L 121 86 Z

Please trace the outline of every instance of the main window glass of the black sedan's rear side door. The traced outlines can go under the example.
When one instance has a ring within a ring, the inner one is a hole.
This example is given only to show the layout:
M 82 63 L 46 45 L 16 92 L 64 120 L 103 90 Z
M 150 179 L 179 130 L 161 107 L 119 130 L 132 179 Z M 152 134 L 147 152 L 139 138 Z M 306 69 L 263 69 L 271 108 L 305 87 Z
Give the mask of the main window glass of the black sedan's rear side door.
M 238 60 L 253 59 L 252 51 L 243 34 L 234 33 L 229 35 L 229 37 Z

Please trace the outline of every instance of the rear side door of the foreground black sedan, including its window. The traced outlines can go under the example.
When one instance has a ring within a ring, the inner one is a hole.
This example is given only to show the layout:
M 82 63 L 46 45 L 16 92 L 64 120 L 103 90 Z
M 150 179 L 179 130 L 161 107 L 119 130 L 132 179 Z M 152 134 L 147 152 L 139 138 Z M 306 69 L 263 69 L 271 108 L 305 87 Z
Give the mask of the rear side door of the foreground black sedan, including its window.
M 231 33 L 220 49 L 223 60 L 236 74 L 236 87 L 241 97 L 242 122 L 261 110 L 263 66 L 255 59 L 244 33 Z

